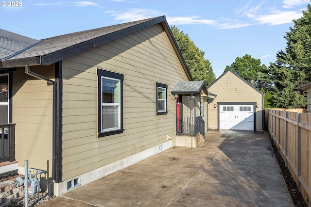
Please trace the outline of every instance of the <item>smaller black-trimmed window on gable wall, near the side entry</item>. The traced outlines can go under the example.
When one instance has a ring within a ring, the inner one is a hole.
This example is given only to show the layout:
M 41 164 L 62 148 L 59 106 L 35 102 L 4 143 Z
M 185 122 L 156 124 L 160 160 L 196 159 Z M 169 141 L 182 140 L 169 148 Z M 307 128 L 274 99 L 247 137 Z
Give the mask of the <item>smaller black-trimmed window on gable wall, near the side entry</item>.
M 156 83 L 156 115 L 167 114 L 167 85 Z

